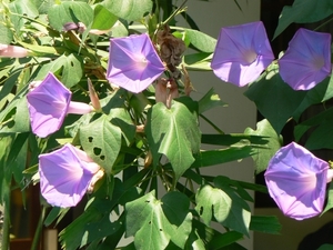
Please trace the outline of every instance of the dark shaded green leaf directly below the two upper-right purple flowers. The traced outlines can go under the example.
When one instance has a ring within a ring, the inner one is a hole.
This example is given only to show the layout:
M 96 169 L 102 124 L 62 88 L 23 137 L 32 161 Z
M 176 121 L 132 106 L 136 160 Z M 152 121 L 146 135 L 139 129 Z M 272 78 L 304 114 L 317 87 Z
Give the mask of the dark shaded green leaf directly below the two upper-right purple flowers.
M 286 121 L 297 110 L 306 91 L 294 91 L 280 77 L 278 66 L 268 71 L 244 92 L 280 134 Z

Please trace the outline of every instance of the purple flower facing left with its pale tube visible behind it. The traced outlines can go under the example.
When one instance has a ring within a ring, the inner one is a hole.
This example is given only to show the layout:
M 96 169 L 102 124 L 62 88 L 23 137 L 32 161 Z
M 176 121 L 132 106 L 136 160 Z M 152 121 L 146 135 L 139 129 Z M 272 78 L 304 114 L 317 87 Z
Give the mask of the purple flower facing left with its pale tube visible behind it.
M 27 94 L 32 132 L 41 138 L 60 129 L 67 113 L 89 113 L 93 108 L 71 101 L 68 90 L 51 72 Z

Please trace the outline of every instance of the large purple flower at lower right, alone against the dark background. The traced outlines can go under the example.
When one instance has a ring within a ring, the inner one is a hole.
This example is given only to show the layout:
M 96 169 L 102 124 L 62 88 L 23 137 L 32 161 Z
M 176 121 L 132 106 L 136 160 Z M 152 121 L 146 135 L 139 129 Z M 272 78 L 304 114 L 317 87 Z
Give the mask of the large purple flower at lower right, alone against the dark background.
M 323 210 L 329 163 L 292 142 L 271 159 L 265 172 L 270 196 L 293 219 L 315 217 Z

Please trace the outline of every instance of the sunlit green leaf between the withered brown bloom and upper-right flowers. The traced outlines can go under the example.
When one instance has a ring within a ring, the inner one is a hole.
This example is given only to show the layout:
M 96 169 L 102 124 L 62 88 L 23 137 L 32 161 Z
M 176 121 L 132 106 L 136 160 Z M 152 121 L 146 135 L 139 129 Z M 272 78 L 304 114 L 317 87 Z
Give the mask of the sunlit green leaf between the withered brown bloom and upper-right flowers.
M 212 53 L 216 47 L 216 39 L 198 30 L 185 29 L 185 37 L 191 44 L 202 52 Z

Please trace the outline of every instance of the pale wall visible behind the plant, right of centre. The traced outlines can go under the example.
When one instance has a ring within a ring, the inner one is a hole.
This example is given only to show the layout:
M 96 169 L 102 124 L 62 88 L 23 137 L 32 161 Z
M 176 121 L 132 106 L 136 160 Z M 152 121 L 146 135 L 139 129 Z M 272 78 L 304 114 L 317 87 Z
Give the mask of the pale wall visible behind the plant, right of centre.
M 195 20 L 200 30 L 218 38 L 220 29 L 226 26 L 235 26 L 245 22 L 260 20 L 260 0 L 238 0 L 241 6 L 240 10 L 233 0 L 189 0 L 186 2 L 188 13 Z M 180 24 L 183 24 L 181 22 Z M 221 100 L 226 102 L 226 108 L 215 108 L 204 113 L 220 129 L 226 133 L 243 132 L 246 127 L 255 129 L 256 109 L 249 101 L 243 92 L 245 88 L 238 88 L 233 84 L 222 82 L 213 72 L 190 72 L 191 81 L 196 90 L 191 96 L 200 99 L 211 87 L 219 93 Z M 201 120 L 203 133 L 214 133 L 215 131 Z M 253 162 L 252 159 L 242 162 L 232 162 L 229 164 L 218 166 L 204 169 L 206 173 L 213 176 L 228 176 L 232 179 L 253 182 Z M 252 206 L 253 211 L 253 206 Z M 241 242 L 248 250 L 253 249 L 253 234 L 251 239 Z

